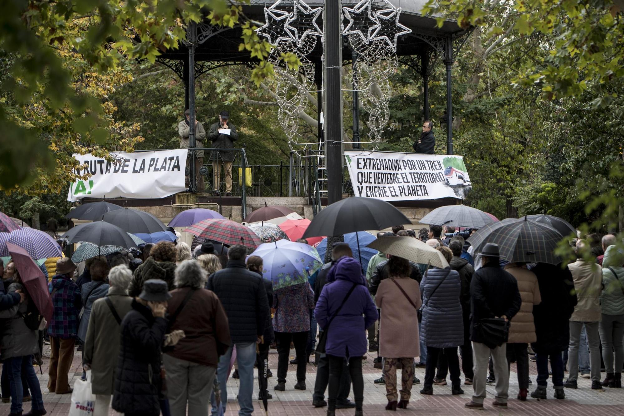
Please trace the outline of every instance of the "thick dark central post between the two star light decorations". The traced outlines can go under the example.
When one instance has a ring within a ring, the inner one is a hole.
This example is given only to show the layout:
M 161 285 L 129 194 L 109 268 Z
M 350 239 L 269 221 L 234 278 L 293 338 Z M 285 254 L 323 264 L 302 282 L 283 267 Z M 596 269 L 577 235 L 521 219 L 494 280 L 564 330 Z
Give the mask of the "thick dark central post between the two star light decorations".
M 324 19 L 324 56 L 325 56 L 325 94 L 324 94 L 324 133 L 325 167 L 327 172 L 328 204 L 340 201 L 343 197 L 342 170 L 342 131 L 343 112 L 341 109 L 341 40 L 340 0 L 325 0 Z

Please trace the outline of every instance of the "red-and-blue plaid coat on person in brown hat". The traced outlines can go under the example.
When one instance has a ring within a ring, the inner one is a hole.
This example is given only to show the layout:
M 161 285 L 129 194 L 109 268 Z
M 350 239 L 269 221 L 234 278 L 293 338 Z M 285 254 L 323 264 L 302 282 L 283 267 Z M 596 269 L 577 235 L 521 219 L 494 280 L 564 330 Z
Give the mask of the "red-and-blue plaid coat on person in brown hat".
M 52 295 L 54 313 L 47 325 L 47 332 L 52 337 L 68 339 L 78 333 L 78 313 L 82 307 L 80 288 L 67 275 L 57 274 L 48 284 Z M 55 291 L 56 290 L 56 291 Z

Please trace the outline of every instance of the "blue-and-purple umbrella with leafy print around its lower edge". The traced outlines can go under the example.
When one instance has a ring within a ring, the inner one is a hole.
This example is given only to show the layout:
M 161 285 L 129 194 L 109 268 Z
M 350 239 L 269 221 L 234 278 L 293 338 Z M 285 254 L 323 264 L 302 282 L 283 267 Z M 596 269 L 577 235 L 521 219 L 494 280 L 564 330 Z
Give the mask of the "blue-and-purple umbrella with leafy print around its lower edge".
M 306 283 L 308 277 L 323 267 L 314 247 L 288 240 L 260 244 L 251 255 L 262 257 L 262 275 L 271 280 L 274 290 Z

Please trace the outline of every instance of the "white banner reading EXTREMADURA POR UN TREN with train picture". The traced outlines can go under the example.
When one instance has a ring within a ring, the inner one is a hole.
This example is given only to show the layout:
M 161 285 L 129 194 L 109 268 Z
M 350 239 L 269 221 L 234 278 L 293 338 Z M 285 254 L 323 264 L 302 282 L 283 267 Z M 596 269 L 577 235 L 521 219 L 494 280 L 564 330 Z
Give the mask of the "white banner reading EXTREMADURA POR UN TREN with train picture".
M 461 156 L 345 151 L 355 196 L 406 201 L 453 197 L 472 188 Z

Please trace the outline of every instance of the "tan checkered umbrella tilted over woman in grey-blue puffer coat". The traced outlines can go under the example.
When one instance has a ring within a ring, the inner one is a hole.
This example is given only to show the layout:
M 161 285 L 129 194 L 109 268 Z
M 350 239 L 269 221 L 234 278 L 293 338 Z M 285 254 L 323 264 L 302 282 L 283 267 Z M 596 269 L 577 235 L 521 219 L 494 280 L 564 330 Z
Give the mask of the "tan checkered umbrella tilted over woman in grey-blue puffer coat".
M 414 237 L 379 237 L 367 247 L 412 260 L 414 263 L 431 264 L 442 269 L 449 267 L 449 263 L 439 250 Z

